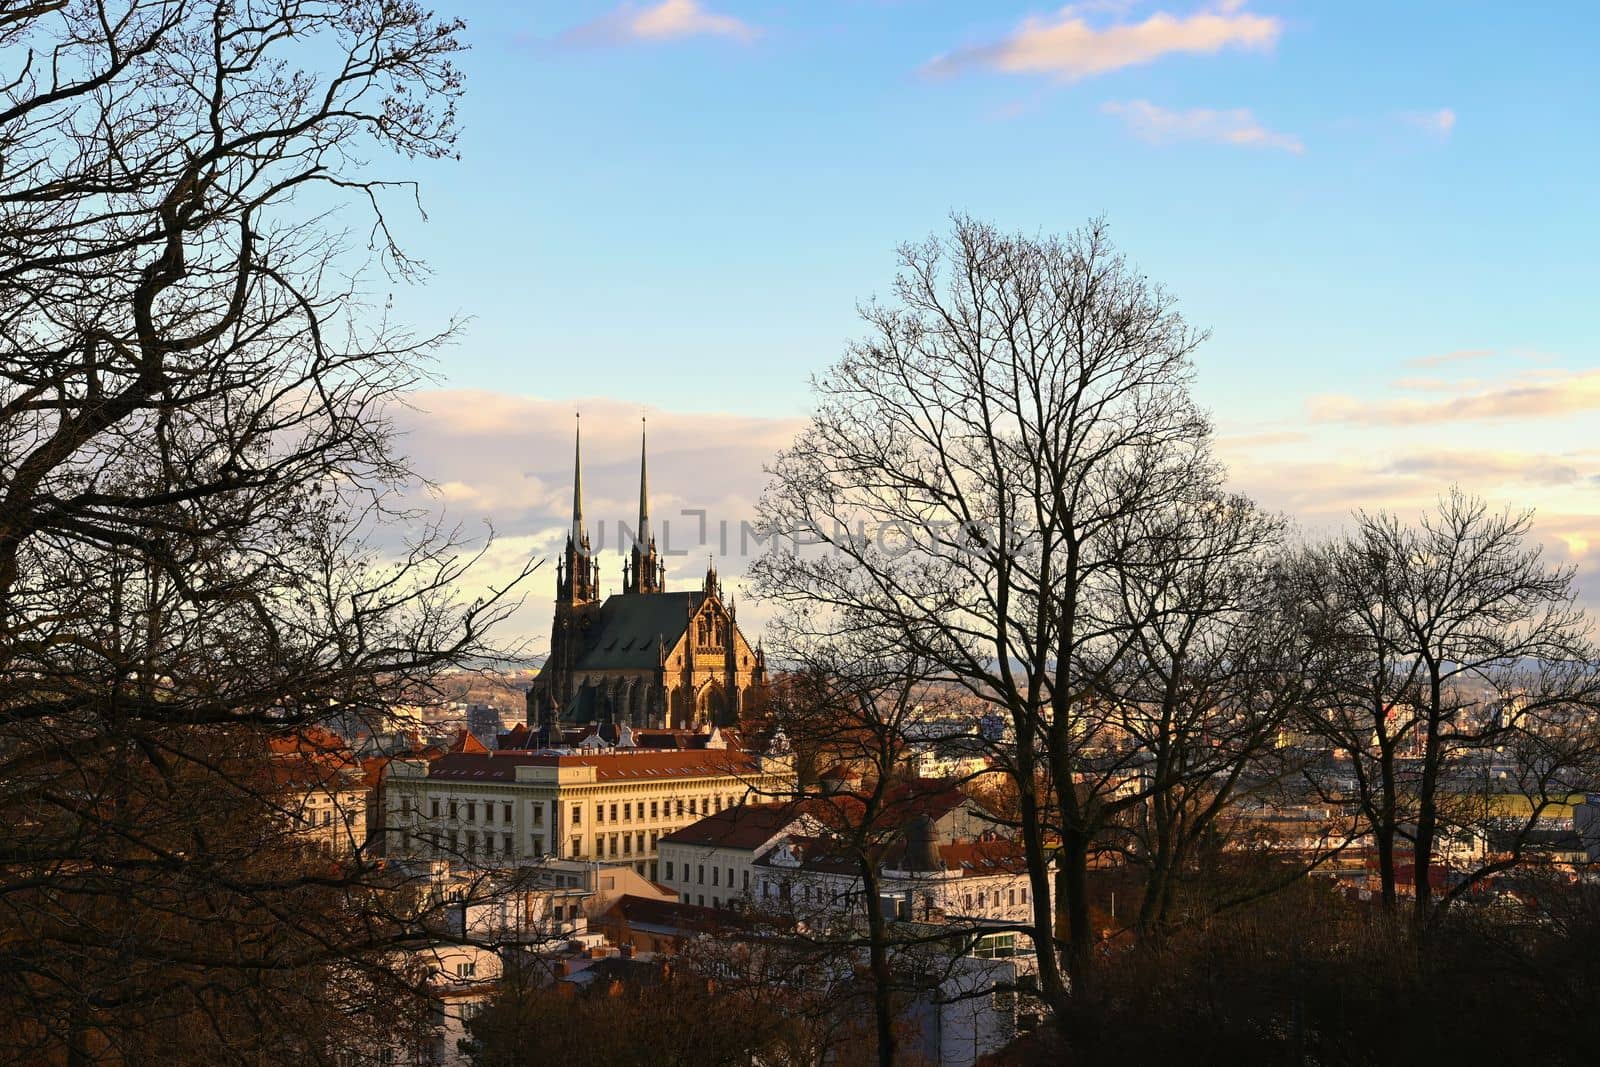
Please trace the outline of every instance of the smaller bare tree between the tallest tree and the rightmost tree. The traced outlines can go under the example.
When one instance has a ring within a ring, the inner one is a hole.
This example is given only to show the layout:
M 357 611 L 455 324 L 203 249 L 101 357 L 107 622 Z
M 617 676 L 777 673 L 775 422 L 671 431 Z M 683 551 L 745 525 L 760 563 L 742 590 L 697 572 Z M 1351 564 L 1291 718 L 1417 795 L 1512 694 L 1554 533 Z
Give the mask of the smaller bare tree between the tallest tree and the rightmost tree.
M 1230 806 L 1270 798 L 1293 769 L 1278 741 L 1318 691 L 1320 648 L 1285 581 L 1280 518 L 1202 485 L 1134 522 L 1138 555 L 1114 595 L 1134 648 L 1101 691 L 1115 709 L 1107 744 L 1133 763 L 1107 761 L 1131 774 L 1107 806 L 1126 813 L 1146 875 L 1136 925 L 1152 931 Z

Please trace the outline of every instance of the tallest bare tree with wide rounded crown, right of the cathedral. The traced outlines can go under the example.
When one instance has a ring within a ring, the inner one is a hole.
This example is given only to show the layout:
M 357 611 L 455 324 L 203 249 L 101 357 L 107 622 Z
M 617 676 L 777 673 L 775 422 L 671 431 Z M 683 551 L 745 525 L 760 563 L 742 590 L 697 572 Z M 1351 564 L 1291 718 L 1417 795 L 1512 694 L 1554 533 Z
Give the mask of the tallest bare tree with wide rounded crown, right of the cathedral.
M 1069 787 L 1101 713 L 1083 665 L 1131 645 L 1102 609 L 1128 517 L 1214 478 L 1187 394 L 1202 338 L 1099 222 L 1029 238 L 957 219 L 899 259 L 894 302 L 862 309 L 866 339 L 818 379 L 763 498 L 768 533 L 814 547 L 766 553 L 755 582 L 837 608 L 1010 721 L 1040 984 L 1061 1009 L 1051 838 L 1075 981 L 1093 941 L 1094 805 Z

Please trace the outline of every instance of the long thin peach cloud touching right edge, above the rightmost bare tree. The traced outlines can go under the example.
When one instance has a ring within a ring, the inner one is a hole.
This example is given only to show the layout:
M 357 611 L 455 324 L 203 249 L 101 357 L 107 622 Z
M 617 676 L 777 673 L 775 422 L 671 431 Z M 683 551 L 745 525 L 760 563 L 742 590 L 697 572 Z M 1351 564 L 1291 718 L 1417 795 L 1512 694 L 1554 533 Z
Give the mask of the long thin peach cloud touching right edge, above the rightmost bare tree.
M 1349 395 L 1323 395 L 1312 397 L 1307 403 L 1307 413 L 1317 422 L 1355 426 L 1542 419 L 1595 410 L 1600 410 L 1600 370 L 1530 371 L 1502 382 L 1477 386 L 1451 397 L 1432 400 L 1363 400 Z

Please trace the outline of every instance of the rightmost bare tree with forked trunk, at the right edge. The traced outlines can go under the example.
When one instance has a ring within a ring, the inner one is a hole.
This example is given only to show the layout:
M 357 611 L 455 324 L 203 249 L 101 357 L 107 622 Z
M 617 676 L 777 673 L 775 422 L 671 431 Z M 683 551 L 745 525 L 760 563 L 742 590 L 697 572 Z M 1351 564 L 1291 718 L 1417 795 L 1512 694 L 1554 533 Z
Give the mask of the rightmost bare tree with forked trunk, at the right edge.
M 1571 568 L 1528 547 L 1531 514 L 1451 491 L 1416 526 L 1358 514 L 1307 568 L 1323 640 L 1342 659 L 1314 726 L 1349 760 L 1382 899 L 1413 862 L 1414 918 L 1456 838 L 1440 902 L 1514 867 L 1539 816 L 1595 781 L 1600 673 Z M 1507 814 L 1496 798 L 1517 797 Z M 1509 840 L 1482 851 L 1491 824 Z

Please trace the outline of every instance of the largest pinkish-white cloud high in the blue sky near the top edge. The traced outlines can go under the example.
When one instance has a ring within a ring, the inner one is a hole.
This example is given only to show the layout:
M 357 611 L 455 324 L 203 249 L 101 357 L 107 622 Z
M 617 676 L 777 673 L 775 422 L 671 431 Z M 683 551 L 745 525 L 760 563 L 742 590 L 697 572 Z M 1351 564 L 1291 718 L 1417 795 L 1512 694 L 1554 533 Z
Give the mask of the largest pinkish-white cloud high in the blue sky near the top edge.
M 1171 54 L 1214 54 L 1224 48 L 1269 51 L 1282 22 L 1242 8 L 1242 3 L 1222 3 L 1186 16 L 1160 11 L 1142 22 L 1094 27 L 1083 18 L 1083 8 L 1067 6 L 1054 16 L 1024 19 L 1003 40 L 938 56 L 923 72 L 947 77 L 989 69 L 1077 82 Z

